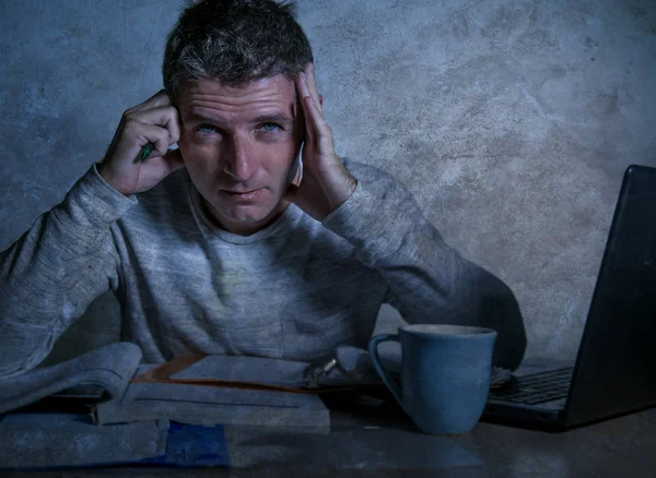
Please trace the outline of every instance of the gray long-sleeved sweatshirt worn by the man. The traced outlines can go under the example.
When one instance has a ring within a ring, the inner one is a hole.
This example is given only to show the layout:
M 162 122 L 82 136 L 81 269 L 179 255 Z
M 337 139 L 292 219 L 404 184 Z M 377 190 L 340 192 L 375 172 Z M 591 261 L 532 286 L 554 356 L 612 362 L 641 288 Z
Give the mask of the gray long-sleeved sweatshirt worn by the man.
M 366 348 L 386 302 L 410 323 L 491 326 L 494 362 L 517 367 L 526 336 L 513 292 L 447 246 L 399 181 L 344 165 L 358 187 L 323 222 L 291 204 L 251 236 L 216 227 L 185 169 L 126 198 L 93 165 L 0 254 L 0 377 L 36 367 L 108 289 L 121 340 L 145 362 Z

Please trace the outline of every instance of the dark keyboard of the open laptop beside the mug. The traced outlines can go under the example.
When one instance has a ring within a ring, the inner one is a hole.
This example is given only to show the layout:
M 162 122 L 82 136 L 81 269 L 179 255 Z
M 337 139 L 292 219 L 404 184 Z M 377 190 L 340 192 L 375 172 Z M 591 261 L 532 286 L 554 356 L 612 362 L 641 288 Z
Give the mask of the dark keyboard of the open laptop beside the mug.
M 567 396 L 573 367 L 530 375 L 513 377 L 511 382 L 490 391 L 489 399 L 536 405 Z

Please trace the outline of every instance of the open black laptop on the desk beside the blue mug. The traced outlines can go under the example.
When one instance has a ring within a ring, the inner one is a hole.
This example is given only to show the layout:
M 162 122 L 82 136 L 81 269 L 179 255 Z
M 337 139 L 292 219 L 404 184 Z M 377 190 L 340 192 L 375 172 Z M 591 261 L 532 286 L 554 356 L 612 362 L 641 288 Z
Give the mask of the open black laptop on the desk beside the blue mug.
M 562 431 L 656 405 L 656 168 L 626 168 L 574 363 L 524 363 L 483 421 Z

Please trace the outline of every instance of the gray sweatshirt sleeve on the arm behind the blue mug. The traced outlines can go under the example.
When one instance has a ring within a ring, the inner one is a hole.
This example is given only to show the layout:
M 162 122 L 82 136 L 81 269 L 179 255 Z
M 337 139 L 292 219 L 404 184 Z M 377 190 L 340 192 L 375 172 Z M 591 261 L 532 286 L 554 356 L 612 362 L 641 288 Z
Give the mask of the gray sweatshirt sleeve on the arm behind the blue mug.
M 408 323 L 495 330 L 493 363 L 516 369 L 526 332 L 512 290 L 449 247 L 398 180 L 372 166 L 349 159 L 344 165 L 358 187 L 321 224 L 380 273 L 388 284 L 385 301 Z

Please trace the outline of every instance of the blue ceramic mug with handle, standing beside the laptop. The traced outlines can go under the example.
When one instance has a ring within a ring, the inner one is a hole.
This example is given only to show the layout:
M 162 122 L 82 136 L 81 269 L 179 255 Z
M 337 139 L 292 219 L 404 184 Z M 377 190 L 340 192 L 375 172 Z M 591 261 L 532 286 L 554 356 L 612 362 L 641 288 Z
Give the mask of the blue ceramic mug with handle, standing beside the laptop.
M 496 332 L 465 325 L 414 324 L 372 337 L 376 371 L 414 425 L 431 434 L 462 434 L 481 418 Z M 401 386 L 383 368 L 378 344 L 401 344 Z

